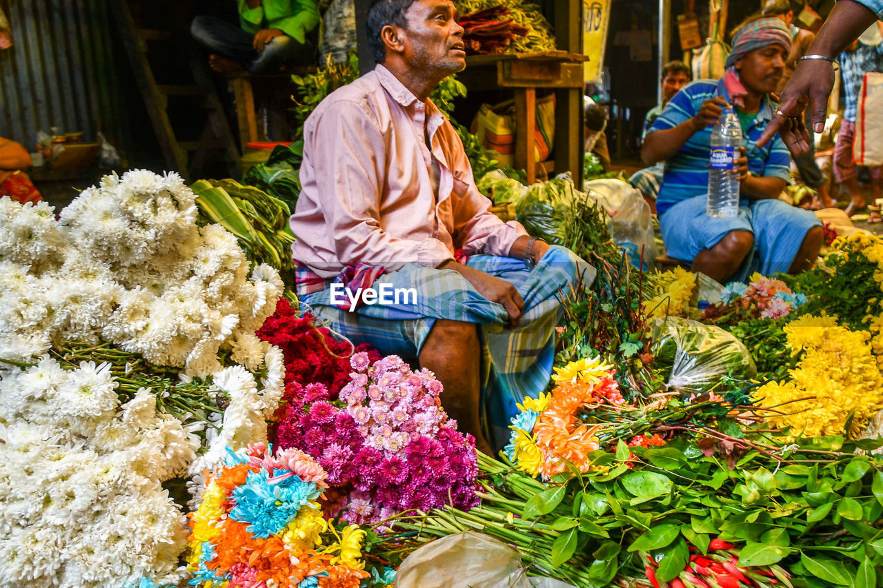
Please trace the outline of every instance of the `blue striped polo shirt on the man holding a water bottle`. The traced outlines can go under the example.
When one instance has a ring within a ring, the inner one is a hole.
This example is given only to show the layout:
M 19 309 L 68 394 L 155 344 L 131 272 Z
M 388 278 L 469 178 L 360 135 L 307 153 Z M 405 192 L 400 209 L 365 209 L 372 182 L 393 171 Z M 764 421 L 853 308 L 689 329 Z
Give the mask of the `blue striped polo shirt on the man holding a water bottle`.
M 698 79 L 684 86 L 668 101 L 662 114 L 653 122 L 650 132 L 665 131 L 686 122 L 698 114 L 706 100 L 722 96 L 730 102 L 723 79 Z M 790 181 L 791 154 L 784 141 L 776 134 L 765 147 L 758 147 L 757 140 L 773 117 L 774 102 L 764 96 L 757 117 L 747 131 L 743 129 L 743 146 L 748 151 L 748 169 L 754 176 L 781 177 Z M 659 215 L 681 200 L 708 193 L 708 161 L 711 157 L 713 126 L 706 126 L 684 143 L 681 150 L 665 162 L 656 211 Z

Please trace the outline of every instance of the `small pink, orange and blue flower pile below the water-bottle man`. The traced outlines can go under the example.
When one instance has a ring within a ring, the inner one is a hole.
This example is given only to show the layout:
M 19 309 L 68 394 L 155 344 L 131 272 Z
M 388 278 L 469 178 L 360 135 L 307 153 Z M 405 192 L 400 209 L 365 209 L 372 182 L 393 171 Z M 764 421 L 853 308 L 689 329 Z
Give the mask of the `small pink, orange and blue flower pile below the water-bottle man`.
M 806 296 L 795 294 L 781 280 L 755 273 L 751 283 L 728 283 L 720 305 L 706 310 L 703 319 L 721 314 L 738 314 L 740 319 L 781 319 L 806 304 Z

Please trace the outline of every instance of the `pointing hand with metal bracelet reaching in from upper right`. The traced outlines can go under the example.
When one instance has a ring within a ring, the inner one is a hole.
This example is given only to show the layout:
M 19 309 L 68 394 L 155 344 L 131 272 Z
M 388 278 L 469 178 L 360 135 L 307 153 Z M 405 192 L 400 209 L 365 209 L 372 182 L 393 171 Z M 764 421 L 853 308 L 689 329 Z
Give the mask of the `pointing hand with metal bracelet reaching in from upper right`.
M 834 67 L 830 62 L 808 59 L 797 64 L 794 75 L 782 90 L 779 108 L 758 139 L 758 147 L 766 145 L 778 132 L 793 155 L 809 153 L 812 138 L 804 124 L 804 109 L 811 104 L 813 128 L 816 132 L 824 131 L 827 98 L 833 87 Z

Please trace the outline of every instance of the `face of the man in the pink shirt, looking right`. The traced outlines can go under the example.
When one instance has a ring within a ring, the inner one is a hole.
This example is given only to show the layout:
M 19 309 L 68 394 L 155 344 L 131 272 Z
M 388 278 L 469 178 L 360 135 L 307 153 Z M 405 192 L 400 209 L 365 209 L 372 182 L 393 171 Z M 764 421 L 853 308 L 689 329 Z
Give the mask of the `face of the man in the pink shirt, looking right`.
M 442 75 L 466 66 L 463 27 L 450 0 L 417 0 L 405 13 L 404 57 L 418 72 Z

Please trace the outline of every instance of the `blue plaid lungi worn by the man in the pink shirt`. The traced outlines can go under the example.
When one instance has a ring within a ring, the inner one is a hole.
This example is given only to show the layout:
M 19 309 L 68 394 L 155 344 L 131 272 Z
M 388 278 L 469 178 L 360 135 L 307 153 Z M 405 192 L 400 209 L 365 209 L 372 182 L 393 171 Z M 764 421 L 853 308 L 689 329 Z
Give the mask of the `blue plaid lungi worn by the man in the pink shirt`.
M 525 396 L 547 388 L 555 358 L 555 327 L 562 316 L 556 294 L 577 283 L 592 283 L 595 270 L 570 250 L 553 246 L 531 270 L 522 260 L 472 255 L 466 265 L 512 283 L 525 300 L 517 328 L 506 328 L 503 305 L 481 296 L 471 283 L 450 269 L 408 264 L 380 275 L 375 290 L 414 289 L 417 299 L 404 296 L 392 304 L 362 304 L 349 312 L 334 305 L 331 283 L 324 290 L 299 297 L 328 327 L 353 343 L 369 343 L 384 355 L 417 358 L 436 319 L 482 325 L 481 411 L 488 441 L 502 447 L 509 440 L 509 419 Z M 384 284 L 389 284 L 384 286 Z

